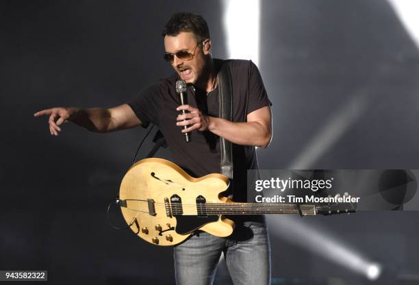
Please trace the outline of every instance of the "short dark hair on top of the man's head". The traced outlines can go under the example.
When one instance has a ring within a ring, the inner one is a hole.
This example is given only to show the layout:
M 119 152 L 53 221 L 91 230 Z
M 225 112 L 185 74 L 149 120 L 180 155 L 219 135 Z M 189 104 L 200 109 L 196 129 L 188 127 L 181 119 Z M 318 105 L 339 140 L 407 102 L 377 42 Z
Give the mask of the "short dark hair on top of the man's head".
M 192 32 L 198 43 L 210 38 L 210 29 L 203 16 L 191 12 L 173 14 L 164 26 L 162 36 L 177 36 L 181 31 Z

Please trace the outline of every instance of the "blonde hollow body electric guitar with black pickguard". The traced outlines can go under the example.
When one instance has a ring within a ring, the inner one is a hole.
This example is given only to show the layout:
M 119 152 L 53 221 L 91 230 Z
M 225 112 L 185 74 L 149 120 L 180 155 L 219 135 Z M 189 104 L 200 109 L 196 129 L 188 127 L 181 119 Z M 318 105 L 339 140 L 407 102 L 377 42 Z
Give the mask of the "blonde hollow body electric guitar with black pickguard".
M 233 202 L 220 195 L 228 186 L 229 179 L 221 174 L 192 178 L 170 161 L 143 159 L 125 174 L 118 204 L 129 228 L 154 245 L 177 245 L 195 230 L 229 236 L 234 222 L 223 215 L 353 212 L 307 204 Z

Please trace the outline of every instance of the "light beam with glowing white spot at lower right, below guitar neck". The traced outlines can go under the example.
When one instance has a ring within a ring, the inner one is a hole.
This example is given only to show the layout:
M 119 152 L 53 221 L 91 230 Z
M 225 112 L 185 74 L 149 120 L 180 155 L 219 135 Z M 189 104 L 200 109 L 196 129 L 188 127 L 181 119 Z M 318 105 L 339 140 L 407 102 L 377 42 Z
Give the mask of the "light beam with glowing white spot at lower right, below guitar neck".
M 368 260 L 331 234 L 325 234 L 325 230 L 304 223 L 301 221 L 301 217 L 279 218 L 267 215 L 267 221 L 272 225 L 269 228 L 270 233 L 275 233 L 291 243 L 305 247 L 342 267 L 361 273 L 369 280 L 377 280 L 381 275 L 379 264 Z

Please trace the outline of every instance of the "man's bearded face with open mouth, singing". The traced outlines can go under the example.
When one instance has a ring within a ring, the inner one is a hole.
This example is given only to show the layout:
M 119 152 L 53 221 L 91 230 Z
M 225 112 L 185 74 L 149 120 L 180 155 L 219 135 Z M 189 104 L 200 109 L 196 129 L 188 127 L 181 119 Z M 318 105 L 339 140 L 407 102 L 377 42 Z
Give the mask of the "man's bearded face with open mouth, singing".
M 164 49 L 171 54 L 179 51 L 194 54 L 190 60 L 179 59 L 175 55 L 171 65 L 186 83 L 194 84 L 200 79 L 205 66 L 205 55 L 210 51 L 205 49 L 202 42 L 196 42 L 193 33 L 182 31 L 177 36 L 165 36 Z

